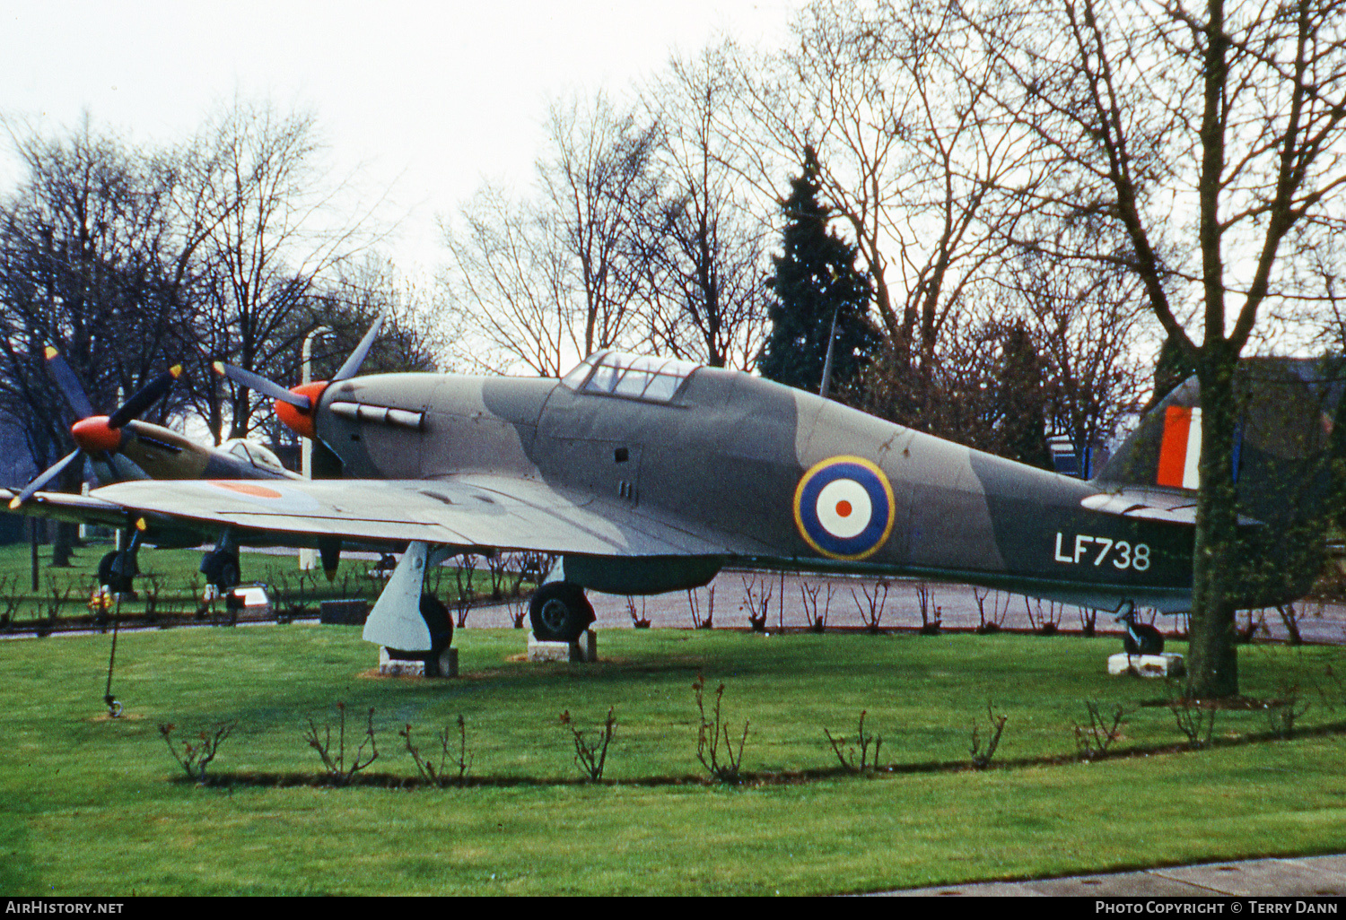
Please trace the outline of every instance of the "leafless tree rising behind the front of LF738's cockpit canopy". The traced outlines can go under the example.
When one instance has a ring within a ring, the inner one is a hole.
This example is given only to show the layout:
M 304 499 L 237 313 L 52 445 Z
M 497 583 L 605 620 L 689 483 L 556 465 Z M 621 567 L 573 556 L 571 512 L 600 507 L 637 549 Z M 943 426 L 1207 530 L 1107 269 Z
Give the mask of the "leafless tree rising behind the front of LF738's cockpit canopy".
M 649 277 L 641 234 L 658 196 L 657 126 L 604 95 L 555 104 L 546 133 L 536 195 L 513 200 L 486 186 L 456 226 L 441 222 L 444 285 L 463 316 L 459 354 L 544 377 L 639 340 Z

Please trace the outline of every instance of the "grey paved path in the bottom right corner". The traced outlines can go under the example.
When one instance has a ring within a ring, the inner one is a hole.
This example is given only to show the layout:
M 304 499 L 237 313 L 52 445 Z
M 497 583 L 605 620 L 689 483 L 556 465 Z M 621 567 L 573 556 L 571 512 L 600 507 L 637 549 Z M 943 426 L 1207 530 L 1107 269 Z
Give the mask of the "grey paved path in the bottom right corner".
M 940 888 L 882 892 L 909 896 L 1019 896 L 1019 897 L 1327 897 L 1346 896 L 1346 855 L 1296 857 L 1211 862 L 1120 872 L 1114 874 L 1040 878 L 1022 882 L 977 882 Z

